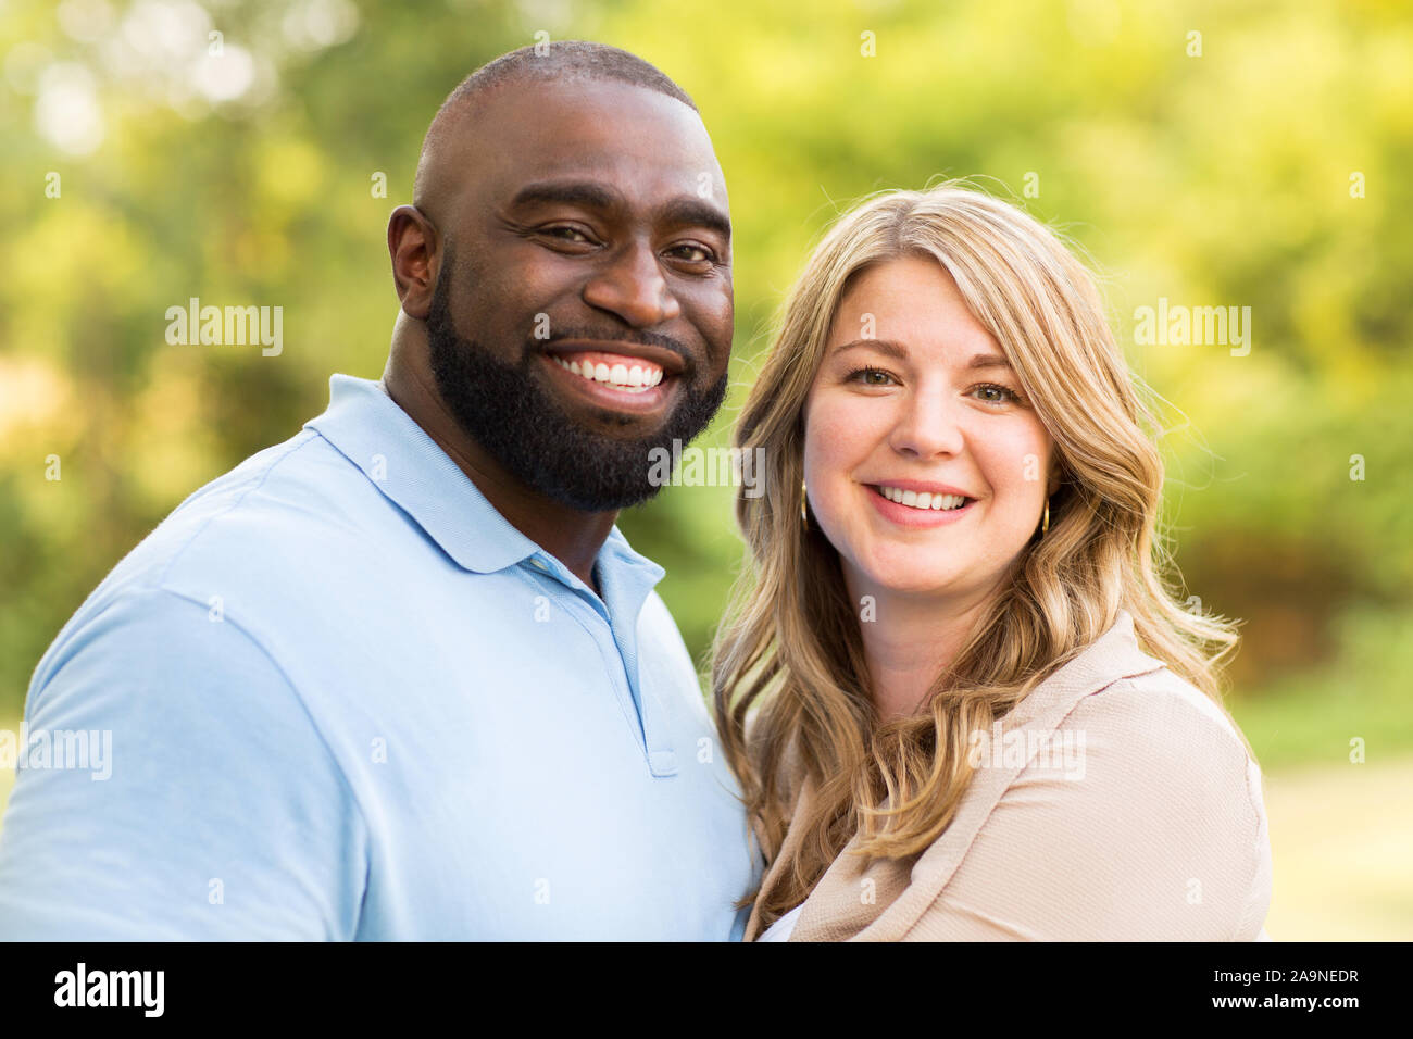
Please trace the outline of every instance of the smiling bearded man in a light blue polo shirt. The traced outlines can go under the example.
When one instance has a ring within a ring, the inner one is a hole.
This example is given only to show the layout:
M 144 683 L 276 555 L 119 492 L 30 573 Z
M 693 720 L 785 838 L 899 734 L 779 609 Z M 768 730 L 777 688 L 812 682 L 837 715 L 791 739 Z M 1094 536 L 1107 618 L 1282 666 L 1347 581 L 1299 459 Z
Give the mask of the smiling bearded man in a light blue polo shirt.
M 663 570 L 613 526 L 725 393 L 691 99 L 584 42 L 437 113 L 383 382 L 184 502 L 41 660 L 6 939 L 739 937 L 746 823 Z M 37 735 L 38 734 L 38 735 Z

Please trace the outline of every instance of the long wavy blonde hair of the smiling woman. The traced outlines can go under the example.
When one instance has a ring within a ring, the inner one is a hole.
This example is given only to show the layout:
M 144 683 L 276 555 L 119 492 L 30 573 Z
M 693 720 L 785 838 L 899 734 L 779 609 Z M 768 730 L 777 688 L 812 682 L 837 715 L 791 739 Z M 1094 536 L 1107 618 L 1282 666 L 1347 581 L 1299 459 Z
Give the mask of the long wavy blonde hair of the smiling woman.
M 937 676 L 930 710 L 880 724 L 838 554 L 800 517 L 804 404 L 855 276 L 909 256 L 942 264 L 995 336 L 1056 442 L 1061 485 L 1048 532 L 1020 551 Z M 767 861 L 780 854 L 801 780 L 815 790 L 793 861 L 760 906 L 766 924 L 808 896 L 855 833 L 859 854 L 875 858 L 937 840 L 972 777 L 969 734 L 1104 635 L 1121 608 L 1149 654 L 1219 704 L 1217 666 L 1238 636 L 1177 599 L 1157 534 L 1156 428 L 1089 271 L 1016 206 L 945 182 L 869 198 L 828 230 L 736 427 L 735 445 L 764 462 L 763 493 L 736 498 L 749 565 L 712 660 L 716 728 Z

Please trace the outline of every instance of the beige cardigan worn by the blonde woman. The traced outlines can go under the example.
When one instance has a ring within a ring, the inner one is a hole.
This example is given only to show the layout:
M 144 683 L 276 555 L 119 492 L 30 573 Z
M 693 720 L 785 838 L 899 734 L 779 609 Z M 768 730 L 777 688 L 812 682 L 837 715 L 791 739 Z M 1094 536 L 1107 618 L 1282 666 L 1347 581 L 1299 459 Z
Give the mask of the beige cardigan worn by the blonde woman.
M 1260 770 L 1226 712 L 1139 649 L 1126 611 L 974 746 L 942 835 L 868 868 L 851 841 L 791 941 L 1266 939 Z M 763 930 L 757 903 L 745 940 Z

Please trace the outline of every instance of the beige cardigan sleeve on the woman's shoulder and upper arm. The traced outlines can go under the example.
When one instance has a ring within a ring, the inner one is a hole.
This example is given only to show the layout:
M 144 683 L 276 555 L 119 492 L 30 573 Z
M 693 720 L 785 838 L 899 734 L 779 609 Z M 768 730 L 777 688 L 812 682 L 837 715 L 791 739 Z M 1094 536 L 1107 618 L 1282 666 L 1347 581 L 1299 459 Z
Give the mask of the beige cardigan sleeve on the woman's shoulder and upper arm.
M 1080 701 L 907 940 L 1256 939 L 1270 899 L 1259 772 L 1221 710 L 1180 681 Z

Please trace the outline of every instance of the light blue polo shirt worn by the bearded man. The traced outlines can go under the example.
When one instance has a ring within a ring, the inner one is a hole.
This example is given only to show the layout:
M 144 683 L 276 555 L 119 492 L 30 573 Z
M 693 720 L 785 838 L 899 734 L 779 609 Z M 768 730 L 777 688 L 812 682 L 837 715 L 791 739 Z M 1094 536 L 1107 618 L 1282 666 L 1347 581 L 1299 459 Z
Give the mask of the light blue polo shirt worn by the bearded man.
M 738 939 L 757 867 L 661 567 L 615 529 L 601 599 L 377 383 L 331 392 L 40 662 L 0 939 Z

